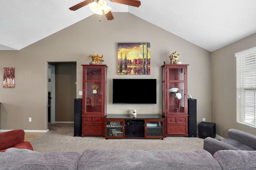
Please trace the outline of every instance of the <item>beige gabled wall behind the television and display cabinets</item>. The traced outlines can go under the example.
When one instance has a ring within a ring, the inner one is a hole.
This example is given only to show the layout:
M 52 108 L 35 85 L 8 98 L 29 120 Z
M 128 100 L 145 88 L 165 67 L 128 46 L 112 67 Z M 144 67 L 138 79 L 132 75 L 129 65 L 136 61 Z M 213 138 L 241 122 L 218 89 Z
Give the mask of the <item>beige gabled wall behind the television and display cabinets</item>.
M 90 61 L 88 54 L 104 55 L 107 73 L 107 113 L 126 114 L 140 108 L 137 114 L 162 112 L 161 65 L 178 51 L 188 65 L 188 94 L 197 99 L 197 122 L 211 121 L 210 52 L 163 30 L 130 13 L 113 13 L 114 20 L 94 14 L 68 28 L 48 36 L 19 51 L 0 51 L 0 75 L 3 67 L 15 67 L 15 88 L 0 88 L 1 130 L 47 130 L 48 65 L 47 62 L 76 62 L 76 98 L 81 98 L 82 66 Z M 171 22 L 171 21 L 166 21 Z M 118 75 L 117 43 L 150 42 L 150 75 Z M 157 104 L 112 104 L 112 79 L 157 79 Z M 32 122 L 28 122 L 32 117 Z

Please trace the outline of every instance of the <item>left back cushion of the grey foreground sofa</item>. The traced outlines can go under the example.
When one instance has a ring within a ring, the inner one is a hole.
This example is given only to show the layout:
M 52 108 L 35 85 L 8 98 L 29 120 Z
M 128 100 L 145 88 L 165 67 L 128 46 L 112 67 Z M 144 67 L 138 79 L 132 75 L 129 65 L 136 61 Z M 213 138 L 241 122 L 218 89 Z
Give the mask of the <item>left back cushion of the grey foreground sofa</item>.
M 77 152 L 0 152 L 0 170 L 76 170 Z

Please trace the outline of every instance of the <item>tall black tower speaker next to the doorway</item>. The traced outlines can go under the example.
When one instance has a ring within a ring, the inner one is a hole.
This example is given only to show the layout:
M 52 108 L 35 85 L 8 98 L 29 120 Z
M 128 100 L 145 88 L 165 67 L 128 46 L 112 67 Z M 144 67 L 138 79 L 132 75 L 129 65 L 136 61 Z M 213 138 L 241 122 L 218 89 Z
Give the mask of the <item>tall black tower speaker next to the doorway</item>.
M 82 98 L 74 100 L 74 136 L 82 134 Z

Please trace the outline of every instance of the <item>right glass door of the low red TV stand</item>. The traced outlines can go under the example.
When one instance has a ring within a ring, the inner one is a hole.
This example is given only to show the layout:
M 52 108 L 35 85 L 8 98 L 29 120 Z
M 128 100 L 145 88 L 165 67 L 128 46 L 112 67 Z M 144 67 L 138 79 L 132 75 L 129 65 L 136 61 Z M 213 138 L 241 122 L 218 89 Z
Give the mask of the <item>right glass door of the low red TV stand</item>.
M 164 120 L 146 121 L 146 138 L 164 138 Z

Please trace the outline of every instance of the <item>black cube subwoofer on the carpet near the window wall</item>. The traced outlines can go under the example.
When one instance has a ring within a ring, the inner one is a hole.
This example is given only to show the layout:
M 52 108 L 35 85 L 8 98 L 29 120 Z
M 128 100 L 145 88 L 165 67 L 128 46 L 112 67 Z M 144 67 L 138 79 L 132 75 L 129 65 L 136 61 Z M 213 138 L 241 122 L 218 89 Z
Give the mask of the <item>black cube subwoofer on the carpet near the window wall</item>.
M 198 137 L 199 138 L 215 138 L 216 137 L 216 125 L 210 122 L 201 122 L 198 124 Z

